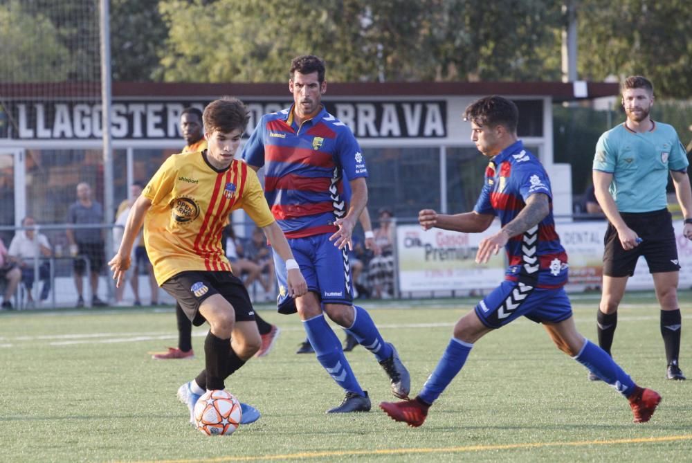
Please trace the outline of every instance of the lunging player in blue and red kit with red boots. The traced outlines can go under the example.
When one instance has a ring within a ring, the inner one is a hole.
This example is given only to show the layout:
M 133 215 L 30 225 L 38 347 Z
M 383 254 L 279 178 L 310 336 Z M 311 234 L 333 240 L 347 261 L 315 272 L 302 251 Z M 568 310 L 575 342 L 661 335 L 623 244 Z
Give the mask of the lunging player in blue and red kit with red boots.
M 648 421 L 661 400 L 659 394 L 637 386 L 603 349 L 576 331 L 563 288 L 567 255 L 554 230 L 550 181 L 543 165 L 518 140 L 518 117 L 516 105 L 499 96 L 469 105 L 464 118 L 471 122 L 471 139 L 491 158 L 475 209 L 457 215 L 430 209 L 419 213 L 425 230 L 437 227 L 463 233 L 481 233 L 499 217 L 502 229 L 482 239 L 476 262 L 488 262 L 504 247 L 509 257 L 505 280 L 459 319 L 444 354 L 417 397 L 383 402 L 380 408 L 396 421 L 421 426 L 428 408 L 462 370 L 473 343 L 493 329 L 526 316 L 543 323 L 558 349 L 627 397 L 635 422 Z

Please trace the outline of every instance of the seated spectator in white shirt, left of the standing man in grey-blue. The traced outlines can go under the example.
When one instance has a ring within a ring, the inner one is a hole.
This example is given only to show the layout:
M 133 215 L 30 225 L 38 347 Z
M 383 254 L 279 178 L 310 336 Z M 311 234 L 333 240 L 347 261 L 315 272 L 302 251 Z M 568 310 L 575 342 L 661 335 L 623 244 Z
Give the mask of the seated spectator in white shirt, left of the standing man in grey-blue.
M 36 225 L 36 221 L 33 217 L 24 217 L 24 220 L 21 221 L 21 225 L 33 227 Z M 37 246 L 39 256 L 37 256 L 36 252 Z M 48 243 L 48 238 L 46 238 L 46 235 L 43 233 L 38 233 L 38 235 L 36 235 L 33 229 L 20 230 L 15 234 L 15 237 L 12 238 L 8 254 L 12 256 L 19 265 L 19 269 L 21 270 L 21 281 L 24 282 L 24 286 L 26 286 L 28 290 L 26 304 L 28 307 L 33 307 L 34 298 L 31 290 L 34 287 L 36 257 L 51 257 L 51 255 L 53 255 L 51 244 Z M 46 260 L 39 262 L 39 279 L 43 282 L 40 299 L 44 301 L 48 299 L 48 293 L 51 291 L 51 264 Z

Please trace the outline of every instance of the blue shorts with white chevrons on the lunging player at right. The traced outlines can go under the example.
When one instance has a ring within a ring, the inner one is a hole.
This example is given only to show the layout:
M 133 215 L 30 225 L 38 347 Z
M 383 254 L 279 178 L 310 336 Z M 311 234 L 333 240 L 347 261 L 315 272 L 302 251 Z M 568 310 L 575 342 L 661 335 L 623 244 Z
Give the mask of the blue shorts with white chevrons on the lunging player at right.
M 520 316 L 536 323 L 559 323 L 572 316 L 564 288 L 534 288 L 504 280 L 475 307 L 478 318 L 489 328 L 501 328 Z

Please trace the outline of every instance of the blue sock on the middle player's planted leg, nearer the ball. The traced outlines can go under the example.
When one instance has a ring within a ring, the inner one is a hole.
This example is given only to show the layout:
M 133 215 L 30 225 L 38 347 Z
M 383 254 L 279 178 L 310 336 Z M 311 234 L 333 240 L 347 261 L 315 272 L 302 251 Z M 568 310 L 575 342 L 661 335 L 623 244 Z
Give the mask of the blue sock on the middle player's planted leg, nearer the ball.
M 303 320 L 303 327 L 312 348 L 315 349 L 317 360 L 322 367 L 325 367 L 331 378 L 347 392 L 365 395 L 361 385 L 358 384 L 356 375 L 351 370 L 351 365 L 346 361 L 339 338 L 327 324 L 325 316 L 320 314 L 309 320 Z

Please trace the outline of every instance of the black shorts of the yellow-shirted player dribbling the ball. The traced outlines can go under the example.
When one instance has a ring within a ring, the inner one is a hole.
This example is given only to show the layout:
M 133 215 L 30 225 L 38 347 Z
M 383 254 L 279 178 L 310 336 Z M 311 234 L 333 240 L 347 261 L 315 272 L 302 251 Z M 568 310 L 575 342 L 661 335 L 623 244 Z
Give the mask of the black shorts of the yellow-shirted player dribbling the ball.
M 192 325 L 199 327 L 206 319 L 199 306 L 209 296 L 220 294 L 235 309 L 235 320 L 255 320 L 255 310 L 243 282 L 226 271 L 184 271 L 166 280 L 161 287 L 175 298 Z

